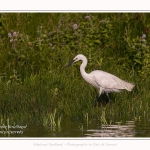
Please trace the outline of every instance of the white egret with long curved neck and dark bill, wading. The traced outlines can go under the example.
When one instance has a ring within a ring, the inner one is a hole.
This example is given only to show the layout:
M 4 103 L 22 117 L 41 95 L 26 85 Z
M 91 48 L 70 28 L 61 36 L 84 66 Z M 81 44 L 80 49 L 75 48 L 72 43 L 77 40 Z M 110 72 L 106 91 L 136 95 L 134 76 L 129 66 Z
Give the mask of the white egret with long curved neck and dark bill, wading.
M 94 70 L 91 73 L 86 73 L 85 67 L 87 66 L 88 60 L 82 54 L 78 54 L 71 62 L 68 63 L 68 65 L 66 65 L 66 67 L 79 60 L 82 61 L 80 66 L 80 73 L 82 77 L 99 90 L 99 97 L 102 93 L 106 93 L 109 99 L 109 92 L 120 92 L 124 89 L 127 91 L 132 91 L 134 84 L 121 80 L 113 74 L 104 72 L 102 70 Z

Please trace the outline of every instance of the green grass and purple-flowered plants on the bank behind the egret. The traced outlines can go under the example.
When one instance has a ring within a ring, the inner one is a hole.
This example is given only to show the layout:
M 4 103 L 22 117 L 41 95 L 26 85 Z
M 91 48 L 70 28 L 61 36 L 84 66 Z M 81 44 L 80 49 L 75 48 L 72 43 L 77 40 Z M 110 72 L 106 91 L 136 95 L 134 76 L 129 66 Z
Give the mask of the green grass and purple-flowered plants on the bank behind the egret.
M 64 118 L 149 117 L 150 14 L 1 13 L 0 118 L 61 126 Z M 132 92 L 112 93 L 105 112 L 79 72 L 64 66 L 77 54 L 101 69 L 135 83 Z M 109 122 L 108 122 L 109 123 Z

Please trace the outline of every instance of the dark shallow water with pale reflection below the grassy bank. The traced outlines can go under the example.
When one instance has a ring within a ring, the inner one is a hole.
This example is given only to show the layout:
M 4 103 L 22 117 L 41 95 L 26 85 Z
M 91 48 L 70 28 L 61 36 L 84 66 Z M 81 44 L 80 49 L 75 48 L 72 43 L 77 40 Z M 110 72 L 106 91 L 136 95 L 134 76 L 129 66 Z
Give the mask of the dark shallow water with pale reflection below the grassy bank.
M 108 125 L 83 124 L 65 119 L 60 128 L 37 124 L 10 127 L 6 133 L 6 129 L 1 126 L 0 137 L 150 137 L 150 119 L 144 118 L 116 121 Z

